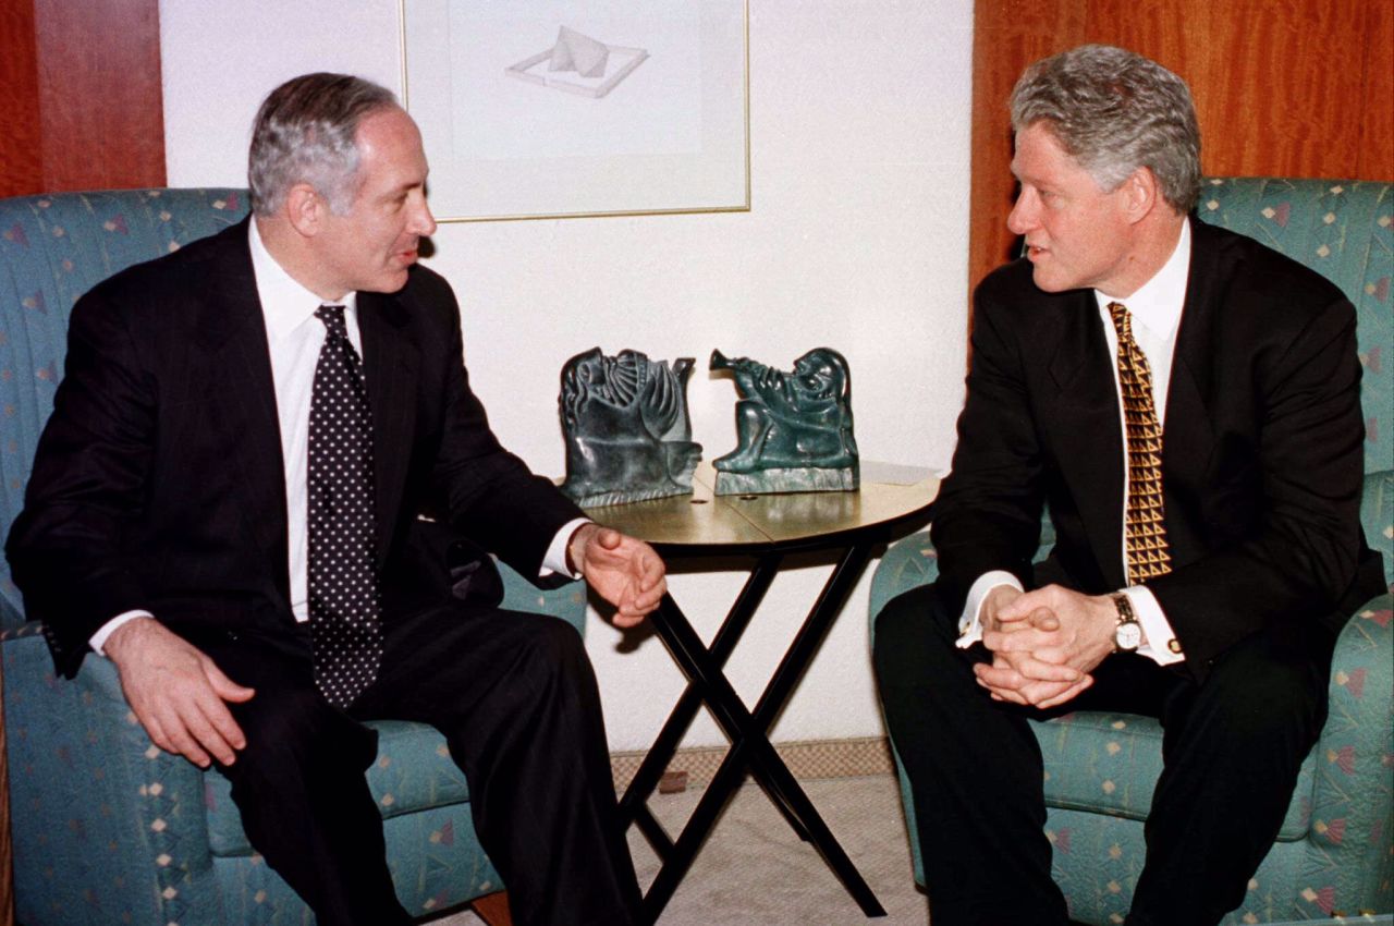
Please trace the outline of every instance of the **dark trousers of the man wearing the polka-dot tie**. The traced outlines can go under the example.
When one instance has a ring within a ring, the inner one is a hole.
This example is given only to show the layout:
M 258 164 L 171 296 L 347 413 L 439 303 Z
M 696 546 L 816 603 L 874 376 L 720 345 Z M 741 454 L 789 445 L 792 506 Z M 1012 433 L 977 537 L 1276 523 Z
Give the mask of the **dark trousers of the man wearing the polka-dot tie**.
M 378 679 L 347 711 L 315 689 L 304 628 L 198 640 L 256 689 L 231 706 L 247 747 L 222 771 L 268 865 L 322 926 L 410 922 L 364 778 L 376 734 L 361 721 L 420 721 L 445 735 L 464 770 L 514 922 L 637 922 L 599 693 L 576 630 L 549 616 L 445 607 L 389 619 L 385 633 Z

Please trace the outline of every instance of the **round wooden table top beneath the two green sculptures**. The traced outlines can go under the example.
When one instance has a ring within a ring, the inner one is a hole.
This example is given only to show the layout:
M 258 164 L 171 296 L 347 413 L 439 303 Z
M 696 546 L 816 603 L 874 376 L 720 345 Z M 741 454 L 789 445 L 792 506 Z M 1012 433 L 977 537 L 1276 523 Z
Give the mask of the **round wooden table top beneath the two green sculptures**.
M 927 517 L 940 481 L 909 467 L 863 463 L 855 492 L 717 495 L 717 473 L 703 462 L 691 495 L 588 508 L 601 524 L 648 541 L 661 552 L 761 552 L 822 547 L 871 529 Z

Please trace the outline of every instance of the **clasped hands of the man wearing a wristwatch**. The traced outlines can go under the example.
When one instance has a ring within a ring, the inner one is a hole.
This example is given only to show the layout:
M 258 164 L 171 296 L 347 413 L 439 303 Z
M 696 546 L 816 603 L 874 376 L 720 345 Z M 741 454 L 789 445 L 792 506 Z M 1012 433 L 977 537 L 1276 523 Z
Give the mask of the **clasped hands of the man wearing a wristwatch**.
M 1094 683 L 1090 672 L 1112 653 L 1115 625 L 1107 597 L 1061 586 L 994 589 L 983 604 L 983 646 L 993 661 L 973 674 L 994 700 L 1057 707 Z

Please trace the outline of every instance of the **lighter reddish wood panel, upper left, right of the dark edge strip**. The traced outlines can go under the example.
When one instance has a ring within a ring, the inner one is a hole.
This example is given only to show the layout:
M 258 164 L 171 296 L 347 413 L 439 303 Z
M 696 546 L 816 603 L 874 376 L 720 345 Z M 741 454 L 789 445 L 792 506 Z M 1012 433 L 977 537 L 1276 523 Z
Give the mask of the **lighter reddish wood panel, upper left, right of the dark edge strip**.
M 35 0 L 45 191 L 164 185 L 158 0 Z

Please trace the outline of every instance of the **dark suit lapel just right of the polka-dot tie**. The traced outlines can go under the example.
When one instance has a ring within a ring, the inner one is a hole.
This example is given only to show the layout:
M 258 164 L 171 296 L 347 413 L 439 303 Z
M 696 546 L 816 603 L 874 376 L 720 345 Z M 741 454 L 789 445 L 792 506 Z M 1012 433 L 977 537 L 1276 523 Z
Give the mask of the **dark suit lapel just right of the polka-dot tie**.
M 393 296 L 358 293 L 362 370 L 372 410 L 372 466 L 376 495 L 378 559 L 388 554 L 411 457 L 413 397 L 420 357 L 406 336 L 410 315 Z

